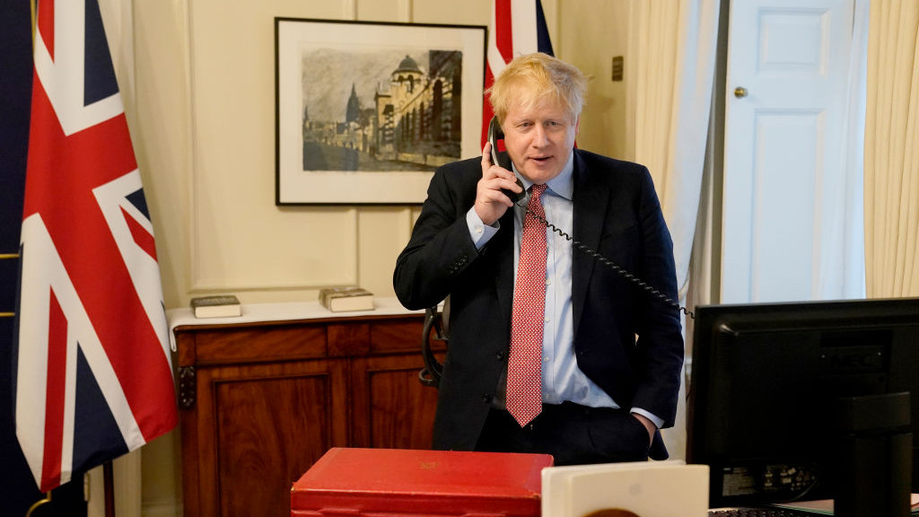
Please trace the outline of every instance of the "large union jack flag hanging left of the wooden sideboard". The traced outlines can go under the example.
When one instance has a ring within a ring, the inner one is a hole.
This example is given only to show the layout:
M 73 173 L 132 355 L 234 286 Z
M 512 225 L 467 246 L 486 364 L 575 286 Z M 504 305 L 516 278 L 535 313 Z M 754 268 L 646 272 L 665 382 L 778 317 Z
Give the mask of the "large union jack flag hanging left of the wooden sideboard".
M 13 350 L 42 491 L 176 426 L 153 224 L 96 0 L 42 0 Z

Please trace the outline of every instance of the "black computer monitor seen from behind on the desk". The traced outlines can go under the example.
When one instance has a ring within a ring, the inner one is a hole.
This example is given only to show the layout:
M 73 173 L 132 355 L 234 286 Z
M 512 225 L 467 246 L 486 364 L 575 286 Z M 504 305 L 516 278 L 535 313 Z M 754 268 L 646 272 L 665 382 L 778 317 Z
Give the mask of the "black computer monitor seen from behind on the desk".
M 911 477 L 919 492 L 919 299 L 695 314 L 686 462 L 709 465 L 712 508 L 834 499 L 839 515 L 841 500 L 850 508 L 882 488 L 908 511 Z

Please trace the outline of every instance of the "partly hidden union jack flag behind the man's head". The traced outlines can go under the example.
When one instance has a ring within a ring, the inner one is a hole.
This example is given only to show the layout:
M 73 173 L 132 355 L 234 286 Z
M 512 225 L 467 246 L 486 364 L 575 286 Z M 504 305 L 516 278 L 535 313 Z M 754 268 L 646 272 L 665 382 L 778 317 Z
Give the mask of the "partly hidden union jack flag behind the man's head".
M 492 21 L 486 48 L 485 88 L 494 84 L 494 78 L 517 55 L 532 52 L 552 54 L 552 41 L 546 27 L 546 17 L 539 0 L 494 0 Z M 482 103 L 482 145 L 488 135 L 488 123 L 494 111 L 486 93 Z

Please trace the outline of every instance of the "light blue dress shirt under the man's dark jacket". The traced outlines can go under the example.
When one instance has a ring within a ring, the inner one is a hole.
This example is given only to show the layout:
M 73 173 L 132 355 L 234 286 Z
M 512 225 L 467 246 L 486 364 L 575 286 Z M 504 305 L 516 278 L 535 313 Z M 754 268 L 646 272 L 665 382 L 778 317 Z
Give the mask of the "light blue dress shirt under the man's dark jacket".
M 546 220 L 571 234 L 573 228 L 574 154 L 569 156 L 562 173 L 546 183 L 548 187 L 540 198 Z M 514 169 L 515 174 L 516 167 Z M 520 256 L 520 239 L 523 236 L 523 220 L 527 213 L 531 183 L 517 174 L 526 190 L 520 201 L 514 205 L 514 278 L 516 281 L 517 259 Z M 483 224 L 474 207 L 466 213 L 470 236 L 477 249 L 497 233 L 500 225 Z M 618 404 L 600 386 L 591 381 L 577 366 L 574 356 L 574 324 L 572 306 L 572 260 L 571 241 L 546 228 L 546 312 L 542 333 L 542 401 L 547 404 L 574 402 L 591 408 L 618 408 Z M 505 377 L 502 377 L 494 402 L 504 407 Z M 631 408 L 641 413 L 660 428 L 663 419 L 641 408 Z

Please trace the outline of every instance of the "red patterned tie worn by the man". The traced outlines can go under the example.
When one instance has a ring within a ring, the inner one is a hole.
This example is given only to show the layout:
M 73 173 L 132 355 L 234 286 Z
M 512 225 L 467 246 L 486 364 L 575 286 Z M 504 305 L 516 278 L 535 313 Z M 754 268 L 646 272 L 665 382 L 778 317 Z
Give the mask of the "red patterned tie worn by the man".
M 545 217 L 539 196 L 545 185 L 533 185 L 527 208 Z M 542 327 L 546 307 L 546 227 L 524 216 L 511 316 L 511 353 L 507 360 L 507 411 L 520 427 L 542 411 Z

